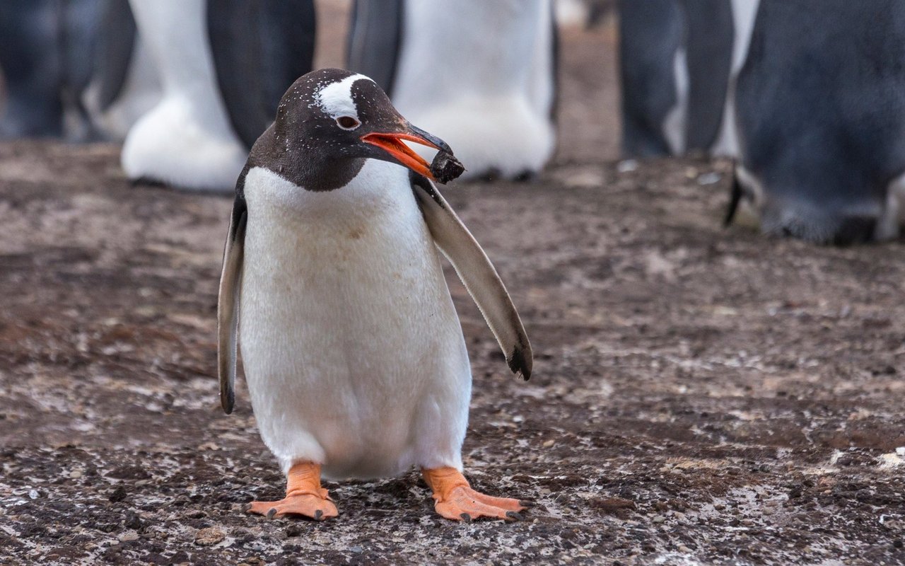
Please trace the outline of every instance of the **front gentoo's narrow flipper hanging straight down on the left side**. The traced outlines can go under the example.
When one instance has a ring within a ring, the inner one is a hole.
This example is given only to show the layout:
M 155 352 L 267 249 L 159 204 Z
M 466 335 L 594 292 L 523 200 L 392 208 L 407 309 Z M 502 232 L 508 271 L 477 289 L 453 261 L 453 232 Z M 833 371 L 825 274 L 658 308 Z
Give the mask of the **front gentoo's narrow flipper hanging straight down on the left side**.
M 224 246 L 224 268 L 217 296 L 217 374 L 220 406 L 229 415 L 235 403 L 236 338 L 239 330 L 239 299 L 242 296 L 242 262 L 248 209 L 242 193 L 236 194 Z

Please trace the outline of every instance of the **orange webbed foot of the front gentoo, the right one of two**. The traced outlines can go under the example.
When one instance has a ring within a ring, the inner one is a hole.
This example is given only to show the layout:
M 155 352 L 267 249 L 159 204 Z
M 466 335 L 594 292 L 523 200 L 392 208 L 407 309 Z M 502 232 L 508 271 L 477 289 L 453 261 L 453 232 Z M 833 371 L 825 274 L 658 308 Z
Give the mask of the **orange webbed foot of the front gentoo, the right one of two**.
M 453 521 L 471 521 L 478 517 L 519 521 L 528 505 L 518 499 L 491 497 L 478 493 L 468 484 L 462 472 L 453 467 L 422 469 L 424 481 L 433 490 L 437 513 Z

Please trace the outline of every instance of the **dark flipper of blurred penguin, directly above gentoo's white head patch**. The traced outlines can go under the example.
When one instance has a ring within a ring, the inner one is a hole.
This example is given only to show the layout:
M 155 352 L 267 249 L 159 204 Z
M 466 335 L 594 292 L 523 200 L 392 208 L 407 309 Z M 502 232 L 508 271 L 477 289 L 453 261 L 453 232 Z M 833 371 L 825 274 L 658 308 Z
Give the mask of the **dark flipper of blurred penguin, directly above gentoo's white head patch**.
M 352 5 L 346 68 L 370 77 L 389 97 L 402 53 L 404 13 L 403 0 L 356 0 Z

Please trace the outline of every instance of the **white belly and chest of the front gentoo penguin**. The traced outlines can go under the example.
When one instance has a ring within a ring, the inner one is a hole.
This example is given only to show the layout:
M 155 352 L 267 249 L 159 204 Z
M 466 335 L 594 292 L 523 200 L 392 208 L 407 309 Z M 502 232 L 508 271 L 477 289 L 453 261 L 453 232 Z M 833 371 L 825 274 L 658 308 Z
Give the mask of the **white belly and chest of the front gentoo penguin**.
M 244 185 L 240 346 L 264 443 L 332 478 L 462 468 L 472 373 L 407 171 L 368 159 L 314 192 Z

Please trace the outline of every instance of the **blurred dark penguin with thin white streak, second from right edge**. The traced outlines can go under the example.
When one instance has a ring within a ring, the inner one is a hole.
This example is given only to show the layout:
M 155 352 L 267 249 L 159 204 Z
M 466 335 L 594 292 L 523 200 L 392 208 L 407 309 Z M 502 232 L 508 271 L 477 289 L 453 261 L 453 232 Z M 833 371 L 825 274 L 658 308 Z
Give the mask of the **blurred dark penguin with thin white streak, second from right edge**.
M 730 0 L 620 0 L 625 157 L 718 144 L 733 38 Z

